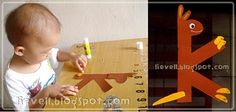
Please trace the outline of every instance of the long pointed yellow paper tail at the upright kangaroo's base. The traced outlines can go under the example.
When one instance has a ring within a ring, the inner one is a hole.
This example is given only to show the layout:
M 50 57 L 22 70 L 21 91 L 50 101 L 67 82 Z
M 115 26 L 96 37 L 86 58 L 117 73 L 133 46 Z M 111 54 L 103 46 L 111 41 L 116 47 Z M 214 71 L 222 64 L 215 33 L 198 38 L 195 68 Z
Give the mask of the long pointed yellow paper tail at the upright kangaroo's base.
M 184 96 L 185 96 L 184 91 L 176 92 L 176 93 L 170 94 L 166 97 L 163 97 L 160 100 L 157 100 L 156 102 L 154 102 L 152 104 L 152 106 L 156 106 L 156 105 L 160 105 L 160 104 L 167 103 L 167 102 L 170 102 L 170 101 L 174 101 L 174 100 L 180 99 Z

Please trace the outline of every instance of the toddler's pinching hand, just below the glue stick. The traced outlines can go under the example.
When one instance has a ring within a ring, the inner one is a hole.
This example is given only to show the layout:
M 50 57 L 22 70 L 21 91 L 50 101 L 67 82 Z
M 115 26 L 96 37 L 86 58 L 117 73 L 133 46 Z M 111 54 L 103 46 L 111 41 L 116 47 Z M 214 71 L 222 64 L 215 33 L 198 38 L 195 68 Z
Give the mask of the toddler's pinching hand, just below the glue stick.
M 87 58 L 85 55 L 75 55 L 72 58 L 72 63 L 83 73 L 87 65 Z

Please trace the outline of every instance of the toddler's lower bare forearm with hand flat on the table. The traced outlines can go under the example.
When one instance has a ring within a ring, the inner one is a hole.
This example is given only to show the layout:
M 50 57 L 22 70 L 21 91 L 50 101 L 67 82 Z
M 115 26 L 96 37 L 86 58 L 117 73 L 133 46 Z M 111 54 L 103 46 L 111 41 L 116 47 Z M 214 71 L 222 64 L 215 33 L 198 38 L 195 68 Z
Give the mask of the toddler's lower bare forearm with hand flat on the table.
M 36 108 L 43 108 L 47 98 L 68 100 L 68 97 L 66 96 L 74 96 L 78 91 L 79 90 L 76 86 L 57 84 L 48 86 L 29 100 L 29 108 L 30 110 Z

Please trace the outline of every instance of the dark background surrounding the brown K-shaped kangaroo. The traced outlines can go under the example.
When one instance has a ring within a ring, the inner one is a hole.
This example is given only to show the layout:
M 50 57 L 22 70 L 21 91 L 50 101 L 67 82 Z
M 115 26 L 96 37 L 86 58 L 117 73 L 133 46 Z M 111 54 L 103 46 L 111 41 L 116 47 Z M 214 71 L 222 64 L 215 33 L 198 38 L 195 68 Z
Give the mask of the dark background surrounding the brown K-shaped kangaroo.
M 152 103 L 157 99 L 174 93 L 177 90 L 177 70 L 155 69 L 155 65 L 177 64 L 178 5 L 178 3 L 149 3 L 148 5 L 148 96 L 150 108 L 214 108 L 214 99 L 212 100 L 211 97 L 205 95 L 195 88 L 192 89 L 192 103 L 178 104 L 174 101 L 155 107 L 151 106 Z M 200 35 L 192 38 L 193 51 L 205 45 L 219 34 L 224 34 L 227 42 L 231 43 L 231 23 L 224 23 L 224 21 L 232 21 L 232 4 L 183 3 L 183 5 L 184 12 L 186 12 L 187 10 L 191 10 L 191 16 L 189 17 L 189 19 L 198 20 L 204 26 L 204 31 Z M 218 23 L 223 25 L 218 25 Z M 221 28 L 221 26 L 225 26 L 224 24 L 227 25 L 227 28 Z M 231 59 L 231 48 L 231 45 L 228 44 L 226 51 L 222 52 L 223 57 L 228 57 L 229 59 Z M 201 65 L 214 65 L 214 63 L 221 62 L 220 60 L 221 58 L 215 58 L 214 56 L 214 59 L 209 58 L 208 60 L 202 62 Z M 231 64 L 230 60 L 228 60 L 228 63 Z M 198 72 L 211 80 L 215 78 L 215 71 L 200 70 Z M 217 78 L 221 77 L 217 76 Z M 226 78 L 227 80 L 230 79 L 230 77 Z M 220 80 L 222 83 L 225 79 L 221 78 Z M 228 83 L 230 86 L 231 83 Z M 222 107 L 225 107 L 224 104 L 221 103 L 219 103 L 219 106 L 217 105 L 217 107 L 221 108 L 221 105 L 223 105 Z M 230 105 L 231 103 L 227 104 L 228 107 Z

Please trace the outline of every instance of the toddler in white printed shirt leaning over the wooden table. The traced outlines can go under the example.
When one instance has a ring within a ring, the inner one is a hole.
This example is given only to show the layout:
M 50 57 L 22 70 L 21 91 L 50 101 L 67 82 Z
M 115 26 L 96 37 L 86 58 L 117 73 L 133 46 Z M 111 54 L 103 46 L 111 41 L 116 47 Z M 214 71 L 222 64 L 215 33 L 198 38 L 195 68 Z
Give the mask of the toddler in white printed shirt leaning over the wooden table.
M 60 22 L 51 11 L 41 4 L 23 4 L 7 16 L 5 29 L 14 47 L 4 76 L 11 107 L 43 108 L 47 98 L 68 100 L 66 96 L 76 95 L 76 86 L 55 84 L 53 68 L 58 62 L 71 61 L 83 72 L 87 59 L 54 48 L 60 37 Z

